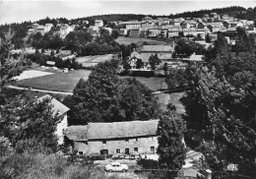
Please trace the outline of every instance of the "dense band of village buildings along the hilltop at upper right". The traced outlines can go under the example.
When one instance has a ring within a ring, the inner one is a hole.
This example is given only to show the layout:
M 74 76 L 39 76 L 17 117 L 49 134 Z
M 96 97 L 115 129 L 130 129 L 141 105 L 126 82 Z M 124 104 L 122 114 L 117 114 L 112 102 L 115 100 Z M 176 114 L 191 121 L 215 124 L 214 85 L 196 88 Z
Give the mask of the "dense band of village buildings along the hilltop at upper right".
M 244 28 L 248 32 L 256 32 L 253 21 L 238 20 L 228 15 L 204 15 L 202 18 L 193 19 L 168 19 L 158 18 L 153 20 L 145 17 L 142 21 L 113 22 L 117 26 L 125 27 L 119 29 L 121 35 L 144 36 L 144 37 L 175 37 L 182 32 L 184 36 L 198 36 L 205 38 L 206 34 L 218 31 L 234 32 L 237 27 Z

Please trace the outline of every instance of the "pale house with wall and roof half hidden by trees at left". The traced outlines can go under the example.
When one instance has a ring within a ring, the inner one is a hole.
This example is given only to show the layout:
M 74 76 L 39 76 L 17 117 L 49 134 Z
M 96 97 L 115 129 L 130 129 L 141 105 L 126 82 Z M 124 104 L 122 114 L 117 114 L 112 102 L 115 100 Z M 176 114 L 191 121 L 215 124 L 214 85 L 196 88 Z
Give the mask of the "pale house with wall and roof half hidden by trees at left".
M 58 117 L 61 118 L 61 120 L 57 124 L 55 134 L 58 138 L 58 145 L 63 145 L 64 143 L 63 131 L 68 128 L 67 112 L 69 111 L 69 108 L 49 94 L 39 97 L 38 101 L 42 101 L 46 98 L 50 99 L 50 104 L 52 105 L 52 115 L 53 116 L 57 115 Z

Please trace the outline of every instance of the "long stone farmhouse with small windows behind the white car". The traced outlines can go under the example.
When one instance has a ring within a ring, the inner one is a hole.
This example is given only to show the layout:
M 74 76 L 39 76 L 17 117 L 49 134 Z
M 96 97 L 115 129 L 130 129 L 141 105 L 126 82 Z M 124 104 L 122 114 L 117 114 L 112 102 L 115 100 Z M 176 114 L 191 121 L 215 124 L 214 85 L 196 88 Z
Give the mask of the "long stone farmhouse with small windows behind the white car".
M 155 154 L 158 149 L 159 120 L 89 123 L 70 126 L 65 144 L 80 154 Z

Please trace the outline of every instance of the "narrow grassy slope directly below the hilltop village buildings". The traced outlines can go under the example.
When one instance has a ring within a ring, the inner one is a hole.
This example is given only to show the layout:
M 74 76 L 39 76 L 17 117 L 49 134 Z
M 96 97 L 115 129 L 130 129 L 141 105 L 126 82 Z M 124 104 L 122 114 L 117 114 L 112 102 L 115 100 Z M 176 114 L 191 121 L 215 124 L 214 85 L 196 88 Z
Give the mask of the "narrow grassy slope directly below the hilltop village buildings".
M 141 45 L 144 41 L 147 41 L 150 45 L 156 45 L 156 44 L 166 44 L 164 41 L 158 41 L 154 39 L 149 38 L 142 38 L 142 37 L 136 37 L 136 36 L 119 36 L 116 41 L 120 44 L 129 45 L 131 43 L 136 43 Z

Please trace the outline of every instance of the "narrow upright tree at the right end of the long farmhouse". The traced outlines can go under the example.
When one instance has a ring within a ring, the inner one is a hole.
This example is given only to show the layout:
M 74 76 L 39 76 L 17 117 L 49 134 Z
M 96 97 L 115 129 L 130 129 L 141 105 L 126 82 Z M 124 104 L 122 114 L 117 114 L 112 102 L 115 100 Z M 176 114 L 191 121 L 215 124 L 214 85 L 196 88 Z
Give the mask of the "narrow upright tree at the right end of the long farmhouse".
M 178 170 L 184 164 L 184 144 L 182 143 L 185 132 L 183 119 L 173 112 L 164 112 L 160 115 L 158 127 L 160 166 L 166 169 Z

